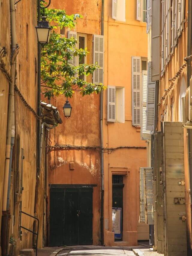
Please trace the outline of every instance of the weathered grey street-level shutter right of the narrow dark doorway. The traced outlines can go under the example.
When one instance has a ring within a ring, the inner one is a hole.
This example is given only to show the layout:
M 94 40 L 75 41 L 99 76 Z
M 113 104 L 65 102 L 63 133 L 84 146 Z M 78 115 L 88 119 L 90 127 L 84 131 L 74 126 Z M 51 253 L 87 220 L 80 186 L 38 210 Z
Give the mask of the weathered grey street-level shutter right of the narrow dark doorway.
M 144 168 L 144 202 L 145 202 L 145 223 L 154 224 L 152 219 L 153 206 L 153 168 Z

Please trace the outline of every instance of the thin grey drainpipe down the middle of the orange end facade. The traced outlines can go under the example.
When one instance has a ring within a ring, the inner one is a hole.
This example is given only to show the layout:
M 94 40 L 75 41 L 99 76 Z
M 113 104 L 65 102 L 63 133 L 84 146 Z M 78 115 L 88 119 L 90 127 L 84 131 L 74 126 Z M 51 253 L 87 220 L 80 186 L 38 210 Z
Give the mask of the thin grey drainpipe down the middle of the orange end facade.
M 104 35 L 104 0 L 101 6 L 101 35 Z M 100 94 L 101 148 L 103 148 L 103 91 Z M 101 245 L 104 245 L 104 152 L 101 149 Z

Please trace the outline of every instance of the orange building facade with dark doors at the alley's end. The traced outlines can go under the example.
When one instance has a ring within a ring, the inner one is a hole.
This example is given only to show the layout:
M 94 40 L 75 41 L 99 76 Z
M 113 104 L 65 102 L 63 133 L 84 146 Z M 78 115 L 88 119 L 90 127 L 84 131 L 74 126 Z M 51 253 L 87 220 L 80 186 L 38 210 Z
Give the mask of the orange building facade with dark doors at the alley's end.
M 107 89 L 74 93 L 70 118 L 49 133 L 48 244 L 137 245 L 149 239 L 149 226 L 139 223 L 139 168 L 147 166 L 148 145 L 140 140 L 146 8 L 139 12 L 137 1 L 118 0 L 52 0 L 51 8 L 83 16 L 73 32 L 61 34 L 87 47 L 85 62 L 100 65 L 87 81 Z M 65 100 L 59 96 L 51 104 L 61 113 Z

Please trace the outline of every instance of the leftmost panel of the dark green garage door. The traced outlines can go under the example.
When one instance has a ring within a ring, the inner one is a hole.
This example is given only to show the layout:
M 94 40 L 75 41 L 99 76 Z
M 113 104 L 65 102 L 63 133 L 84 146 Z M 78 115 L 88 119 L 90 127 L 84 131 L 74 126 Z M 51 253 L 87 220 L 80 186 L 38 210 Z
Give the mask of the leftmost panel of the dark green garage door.
M 64 189 L 50 188 L 49 245 L 64 245 Z

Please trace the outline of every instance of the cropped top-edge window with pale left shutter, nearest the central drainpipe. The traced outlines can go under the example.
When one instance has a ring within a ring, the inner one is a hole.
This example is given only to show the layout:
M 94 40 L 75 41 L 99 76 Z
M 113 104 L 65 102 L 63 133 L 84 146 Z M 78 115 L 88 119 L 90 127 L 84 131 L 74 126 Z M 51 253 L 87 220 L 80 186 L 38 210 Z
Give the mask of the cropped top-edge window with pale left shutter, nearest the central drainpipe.
M 112 0 L 112 18 L 125 21 L 125 0 Z

